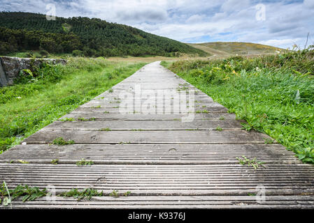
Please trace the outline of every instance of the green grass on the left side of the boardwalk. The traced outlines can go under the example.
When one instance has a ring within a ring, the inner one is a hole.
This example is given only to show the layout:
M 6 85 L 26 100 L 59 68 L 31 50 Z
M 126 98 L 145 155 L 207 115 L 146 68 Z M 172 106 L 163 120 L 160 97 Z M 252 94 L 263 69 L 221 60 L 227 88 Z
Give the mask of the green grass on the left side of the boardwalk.
M 0 88 L 0 153 L 132 75 L 145 63 L 71 58 Z

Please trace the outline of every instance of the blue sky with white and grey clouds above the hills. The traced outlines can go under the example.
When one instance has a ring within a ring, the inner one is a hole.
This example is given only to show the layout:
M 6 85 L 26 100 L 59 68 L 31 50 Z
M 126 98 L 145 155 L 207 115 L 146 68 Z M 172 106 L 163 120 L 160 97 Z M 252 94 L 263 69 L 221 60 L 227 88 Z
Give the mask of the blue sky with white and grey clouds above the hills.
M 314 45 L 314 0 L 0 0 L 0 11 L 50 15 L 53 7 L 58 17 L 97 17 L 184 43 L 304 48 L 310 33 Z

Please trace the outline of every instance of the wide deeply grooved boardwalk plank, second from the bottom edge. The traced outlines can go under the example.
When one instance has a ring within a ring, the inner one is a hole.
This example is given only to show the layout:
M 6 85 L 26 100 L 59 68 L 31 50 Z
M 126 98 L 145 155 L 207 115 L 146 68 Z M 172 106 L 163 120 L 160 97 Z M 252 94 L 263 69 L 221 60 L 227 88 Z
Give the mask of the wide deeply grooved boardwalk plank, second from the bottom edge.
M 195 167 L 197 166 L 197 167 Z M 241 165 L 92 165 L 0 164 L 0 180 L 10 187 L 54 185 L 58 190 L 94 187 L 97 190 L 131 190 L 137 194 L 248 193 L 263 185 L 267 192 L 314 192 L 314 167 L 302 164 L 268 164 L 254 170 Z M 294 171 L 290 171 L 294 169 Z M 276 174 L 272 172 L 275 171 Z M 191 194 L 191 195 L 192 195 Z M 237 194 L 238 195 L 238 194 Z

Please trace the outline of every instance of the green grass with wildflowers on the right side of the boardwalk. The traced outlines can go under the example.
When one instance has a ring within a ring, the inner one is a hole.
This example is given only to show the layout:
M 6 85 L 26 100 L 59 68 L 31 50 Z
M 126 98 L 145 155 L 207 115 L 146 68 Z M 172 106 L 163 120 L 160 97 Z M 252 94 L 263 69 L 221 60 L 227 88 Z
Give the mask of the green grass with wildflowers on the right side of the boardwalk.
M 247 121 L 246 130 L 269 134 L 300 160 L 314 163 L 313 58 L 312 47 L 255 59 L 162 64 Z

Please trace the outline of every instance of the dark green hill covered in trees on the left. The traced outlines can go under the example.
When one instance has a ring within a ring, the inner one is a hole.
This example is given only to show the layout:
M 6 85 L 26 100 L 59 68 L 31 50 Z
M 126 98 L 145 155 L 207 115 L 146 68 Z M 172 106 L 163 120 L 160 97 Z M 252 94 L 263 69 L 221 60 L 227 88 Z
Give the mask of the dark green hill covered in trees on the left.
M 36 13 L 0 12 L 0 54 L 38 49 L 80 56 L 206 55 L 185 43 L 96 18 L 46 20 Z

